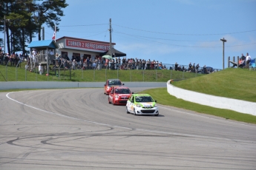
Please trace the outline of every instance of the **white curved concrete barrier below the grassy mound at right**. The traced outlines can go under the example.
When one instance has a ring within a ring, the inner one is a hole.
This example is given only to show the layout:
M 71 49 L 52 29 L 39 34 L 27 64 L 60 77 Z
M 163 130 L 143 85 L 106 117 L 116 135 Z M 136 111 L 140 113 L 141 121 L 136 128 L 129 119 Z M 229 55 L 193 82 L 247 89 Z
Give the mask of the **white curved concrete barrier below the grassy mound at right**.
M 256 103 L 250 101 L 241 101 L 232 98 L 223 98 L 214 95 L 206 95 L 200 92 L 193 92 L 187 89 L 181 89 L 167 82 L 167 91 L 176 98 L 185 101 L 199 103 L 206 106 L 212 106 L 220 109 L 230 109 L 236 112 L 256 115 Z

